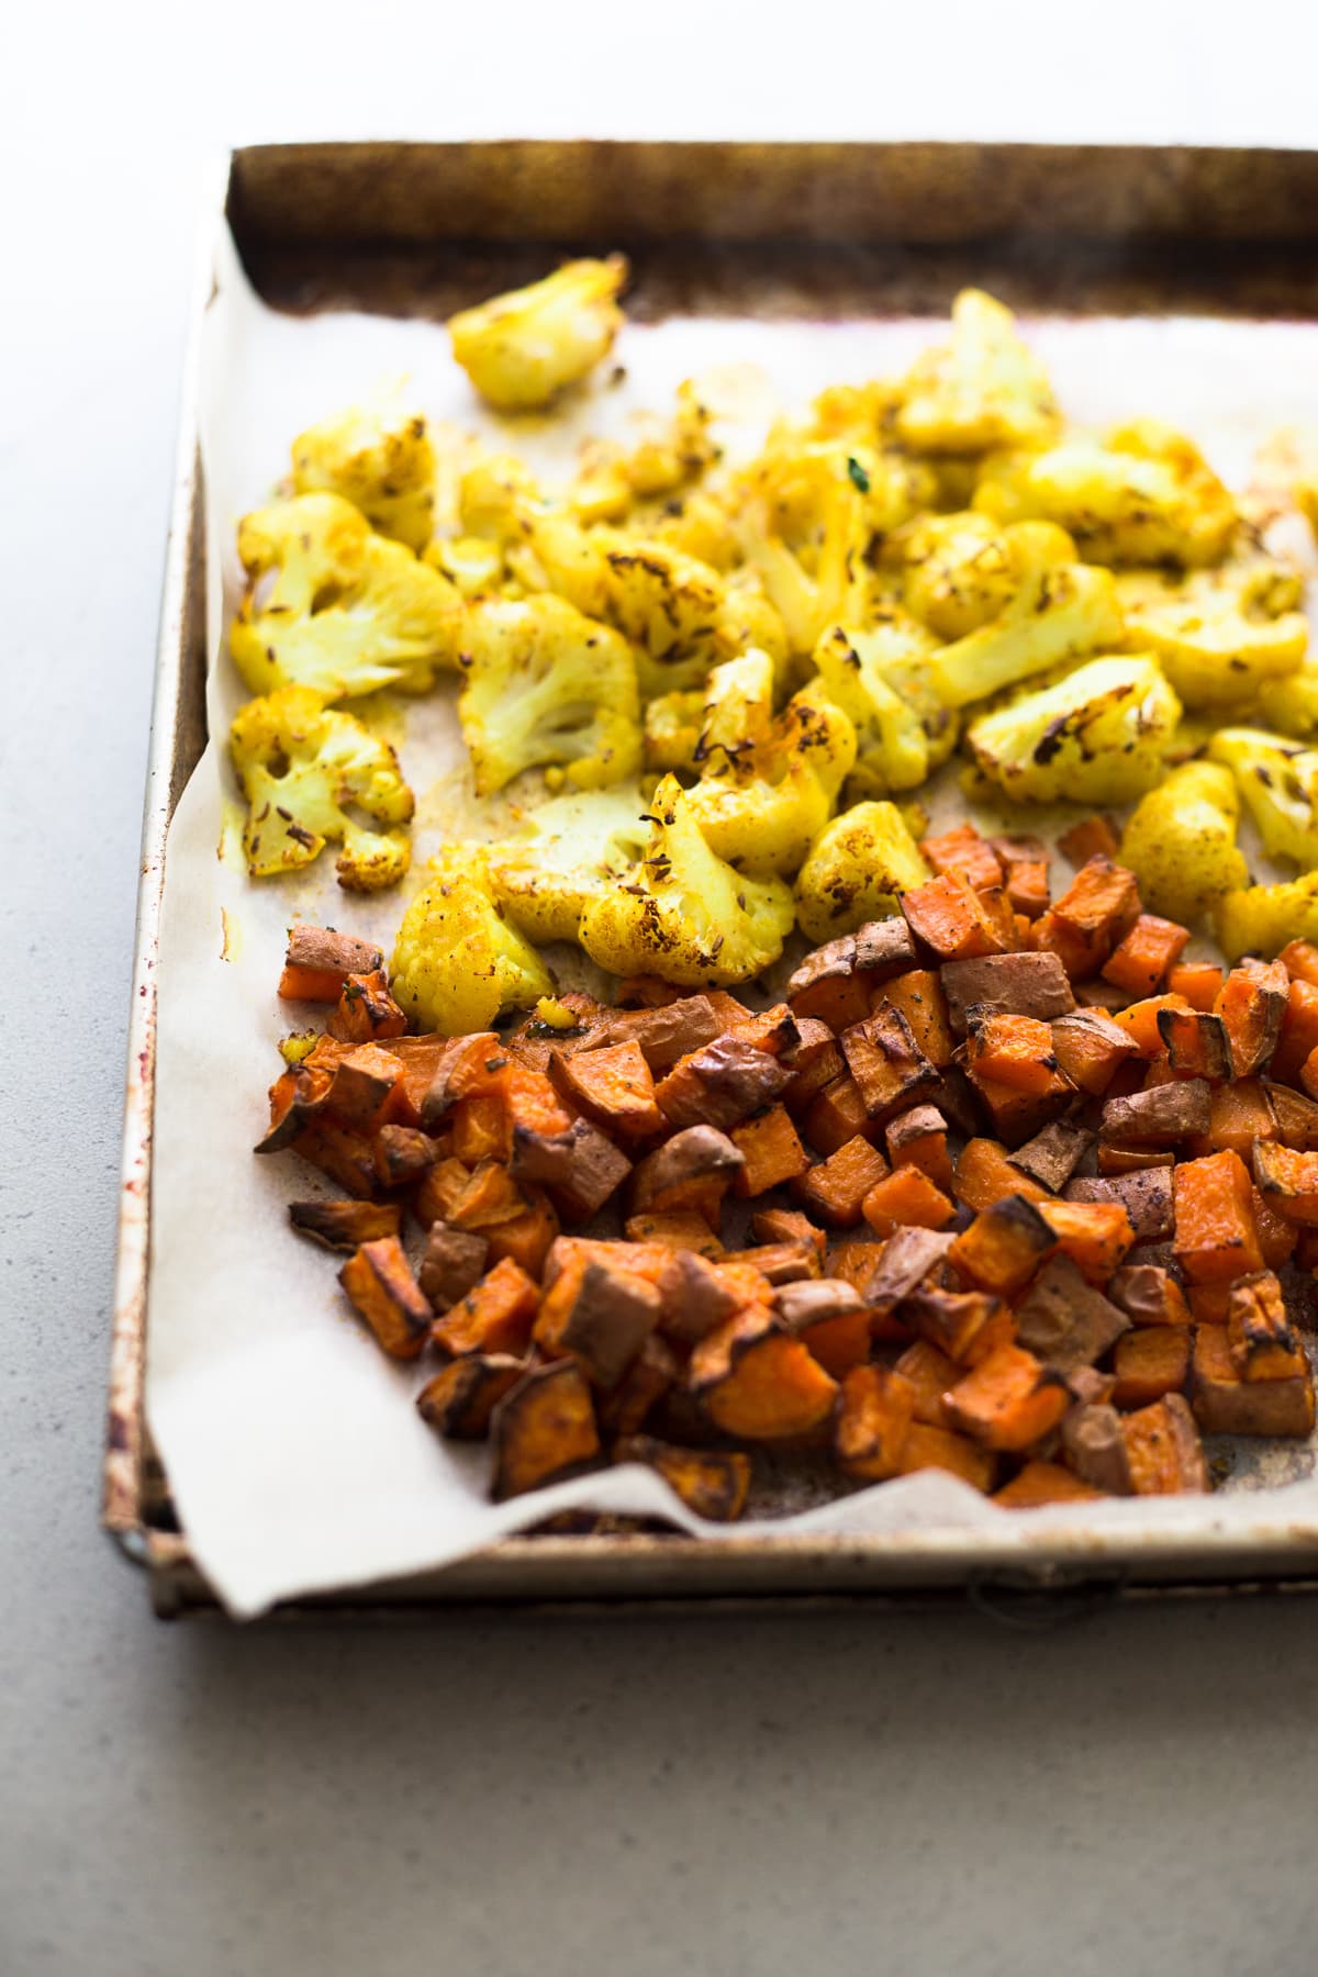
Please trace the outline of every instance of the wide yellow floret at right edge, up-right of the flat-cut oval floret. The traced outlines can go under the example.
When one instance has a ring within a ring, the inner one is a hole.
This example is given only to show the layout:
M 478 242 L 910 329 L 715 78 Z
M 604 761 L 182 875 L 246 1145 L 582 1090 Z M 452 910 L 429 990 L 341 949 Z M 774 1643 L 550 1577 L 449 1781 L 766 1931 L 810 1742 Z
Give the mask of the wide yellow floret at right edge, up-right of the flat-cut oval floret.
M 1298 672 L 1308 650 L 1304 583 L 1267 556 L 1217 569 L 1132 569 L 1116 577 L 1126 639 L 1158 654 L 1188 708 L 1253 700 Z

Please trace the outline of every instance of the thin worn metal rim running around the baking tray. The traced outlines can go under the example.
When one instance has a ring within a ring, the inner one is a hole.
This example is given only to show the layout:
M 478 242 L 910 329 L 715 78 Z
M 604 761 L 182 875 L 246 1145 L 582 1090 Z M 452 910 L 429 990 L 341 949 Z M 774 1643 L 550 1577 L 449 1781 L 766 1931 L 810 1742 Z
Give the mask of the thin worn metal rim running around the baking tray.
M 215 1605 L 213 1593 L 190 1554 L 188 1540 L 148 1524 L 144 1489 L 146 1423 L 144 1423 L 144 1352 L 148 1323 L 150 1273 L 150 1157 L 154 1109 L 154 1024 L 156 1024 L 156 951 L 160 907 L 166 878 L 166 836 L 174 805 L 186 775 L 178 765 L 180 718 L 186 688 L 190 611 L 198 607 L 194 567 L 204 546 L 206 508 L 200 461 L 200 366 L 202 326 L 213 293 L 213 243 L 227 225 L 229 200 L 249 156 L 263 160 L 350 152 L 368 158 L 375 152 L 427 150 L 433 154 L 472 154 L 496 160 L 510 148 L 543 154 L 573 150 L 656 150 L 700 152 L 715 156 L 729 146 L 717 138 L 678 140 L 522 140 L 482 138 L 472 142 L 407 140 L 348 140 L 312 144 L 257 144 L 235 148 L 215 160 L 206 176 L 202 225 L 196 249 L 190 330 L 180 380 L 180 429 L 170 502 L 168 546 L 162 577 L 160 623 L 156 639 L 152 730 L 146 765 L 142 815 L 140 876 L 136 894 L 134 967 L 130 983 L 128 1070 L 123 1115 L 121 1210 L 111 1313 L 109 1408 L 103 1463 L 101 1522 L 123 1554 L 148 1574 L 152 1599 L 160 1613 L 202 1611 Z M 1035 152 L 1067 154 L 1071 158 L 1101 158 L 1111 154 L 1166 156 L 1199 154 L 1249 158 L 1294 158 L 1318 162 L 1318 146 L 1156 146 L 1156 144 L 994 144 L 974 140 L 901 140 L 901 142 L 790 142 L 747 146 L 737 150 L 792 150 L 804 156 L 836 152 Z M 1178 1570 L 1180 1568 L 1180 1570 Z M 719 1586 L 721 1574 L 731 1578 L 731 1591 Z M 431 1605 L 451 1611 L 454 1605 L 530 1605 L 541 1609 L 603 1601 L 609 1609 L 646 1609 L 662 1605 L 692 1605 L 709 1609 L 737 1601 L 765 1599 L 788 1605 L 818 1599 L 873 1603 L 899 1597 L 921 1588 L 962 1591 L 972 1584 L 992 1584 L 1020 1590 L 1022 1582 L 1045 1593 L 1067 1593 L 1099 1584 L 1124 1595 L 1156 1591 L 1223 1591 L 1223 1590 L 1318 1590 L 1318 1520 L 1312 1524 L 1265 1518 L 1259 1530 L 1233 1534 L 1225 1530 L 1199 1532 L 1194 1538 L 1178 1534 L 1144 1536 L 1053 1532 L 1039 1544 L 992 1540 L 984 1532 L 925 1528 L 919 1532 L 777 1538 L 694 1540 L 682 1534 L 605 1534 L 605 1536 L 508 1536 L 494 1546 L 458 1560 L 441 1572 L 421 1572 L 399 1584 L 381 1582 L 334 1595 L 292 1599 L 279 1607 L 287 1611 L 334 1613 L 344 1609 L 381 1607 L 417 1613 Z M 1251 1584 L 1253 1582 L 1253 1584 Z

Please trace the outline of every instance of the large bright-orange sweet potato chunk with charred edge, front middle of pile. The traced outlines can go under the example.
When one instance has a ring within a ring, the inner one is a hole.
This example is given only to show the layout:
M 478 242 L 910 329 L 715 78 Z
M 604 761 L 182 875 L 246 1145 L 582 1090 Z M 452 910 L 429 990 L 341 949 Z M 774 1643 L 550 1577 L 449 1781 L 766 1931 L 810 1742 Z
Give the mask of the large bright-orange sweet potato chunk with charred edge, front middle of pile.
M 838 1398 L 838 1382 L 800 1338 L 753 1305 L 700 1340 L 690 1380 L 713 1425 L 745 1441 L 810 1435 Z

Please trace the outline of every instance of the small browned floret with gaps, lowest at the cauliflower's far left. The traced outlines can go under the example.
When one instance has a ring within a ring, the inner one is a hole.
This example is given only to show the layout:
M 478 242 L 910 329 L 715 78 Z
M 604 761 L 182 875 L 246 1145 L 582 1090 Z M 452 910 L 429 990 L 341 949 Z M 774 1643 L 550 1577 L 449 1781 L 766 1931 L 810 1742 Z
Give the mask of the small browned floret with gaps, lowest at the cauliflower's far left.
M 342 842 L 338 882 L 350 892 L 393 886 L 411 860 L 413 795 L 387 741 L 308 686 L 249 700 L 229 730 L 247 799 L 243 850 L 253 878 L 298 872 Z M 364 813 L 379 830 L 358 820 Z

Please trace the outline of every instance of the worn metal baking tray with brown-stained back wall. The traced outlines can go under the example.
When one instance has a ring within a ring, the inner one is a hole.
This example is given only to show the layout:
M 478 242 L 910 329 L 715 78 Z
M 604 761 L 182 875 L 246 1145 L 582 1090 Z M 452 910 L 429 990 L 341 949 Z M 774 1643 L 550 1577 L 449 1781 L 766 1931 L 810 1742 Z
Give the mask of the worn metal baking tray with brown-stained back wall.
M 945 314 L 962 285 L 1026 310 L 1318 322 L 1318 150 L 1067 144 L 275 144 L 233 152 L 206 214 L 164 577 L 128 1038 L 103 1522 L 162 1613 L 211 1607 L 142 1410 L 150 1259 L 154 965 L 166 830 L 206 743 L 198 346 L 227 223 L 267 302 L 445 316 L 620 247 L 628 310 L 812 318 Z M 1318 1584 L 1318 1524 L 1053 1540 L 1022 1564 L 980 1532 L 690 1540 L 646 1528 L 508 1538 L 443 1572 L 296 1611 L 456 1605 L 907 1603 L 996 1611 L 1089 1595 Z M 1020 1605 L 1024 1601 L 1024 1605 Z M 281 1609 L 294 1611 L 294 1609 Z

